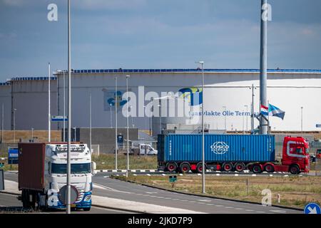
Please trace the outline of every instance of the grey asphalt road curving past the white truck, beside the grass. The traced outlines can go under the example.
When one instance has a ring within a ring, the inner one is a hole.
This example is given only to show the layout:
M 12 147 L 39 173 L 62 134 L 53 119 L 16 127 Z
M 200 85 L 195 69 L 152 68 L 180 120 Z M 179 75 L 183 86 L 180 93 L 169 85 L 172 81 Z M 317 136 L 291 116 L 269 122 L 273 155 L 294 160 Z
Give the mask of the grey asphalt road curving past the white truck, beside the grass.
M 15 173 L 5 173 L 6 180 L 17 181 L 17 178 Z M 114 180 L 103 173 L 95 175 L 93 177 L 93 183 L 96 185 L 96 187 L 93 187 L 93 195 L 144 202 L 166 207 L 190 209 L 196 212 L 210 214 L 302 214 L 302 212 L 295 209 L 264 207 L 259 204 L 233 202 L 224 199 L 198 197 L 158 190 L 152 187 Z

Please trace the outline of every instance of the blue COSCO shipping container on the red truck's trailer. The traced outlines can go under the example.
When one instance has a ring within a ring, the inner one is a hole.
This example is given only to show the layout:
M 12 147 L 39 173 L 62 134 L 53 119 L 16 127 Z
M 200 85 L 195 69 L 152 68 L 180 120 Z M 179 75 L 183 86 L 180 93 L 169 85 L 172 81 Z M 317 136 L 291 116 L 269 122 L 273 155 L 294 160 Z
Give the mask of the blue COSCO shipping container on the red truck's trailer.
M 274 135 L 205 135 L 205 162 L 272 162 Z M 158 135 L 158 162 L 202 160 L 202 135 Z

